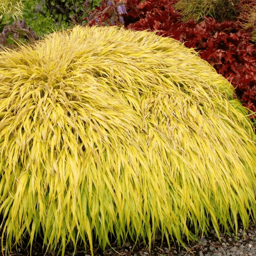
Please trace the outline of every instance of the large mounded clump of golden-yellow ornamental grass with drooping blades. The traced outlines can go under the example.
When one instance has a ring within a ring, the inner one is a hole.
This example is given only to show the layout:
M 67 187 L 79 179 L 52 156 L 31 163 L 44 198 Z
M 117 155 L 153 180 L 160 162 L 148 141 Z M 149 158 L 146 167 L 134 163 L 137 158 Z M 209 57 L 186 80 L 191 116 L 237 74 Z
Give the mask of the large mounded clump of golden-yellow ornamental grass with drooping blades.
M 246 108 L 194 49 L 155 33 L 76 26 L 0 52 L 8 251 L 25 234 L 50 251 L 61 241 L 62 256 L 68 242 L 104 250 L 108 232 L 185 246 L 211 225 L 237 233 L 237 213 L 255 220 Z

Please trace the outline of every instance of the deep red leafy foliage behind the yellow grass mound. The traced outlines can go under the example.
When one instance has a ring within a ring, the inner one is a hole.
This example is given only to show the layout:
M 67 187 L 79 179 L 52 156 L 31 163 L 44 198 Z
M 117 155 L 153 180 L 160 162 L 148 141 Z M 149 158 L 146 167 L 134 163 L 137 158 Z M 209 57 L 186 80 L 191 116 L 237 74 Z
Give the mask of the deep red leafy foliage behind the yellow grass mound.
M 256 47 L 251 41 L 252 28 L 244 29 L 240 12 L 233 21 L 218 23 L 212 17 L 205 17 L 201 23 L 190 19 L 181 21 L 181 13 L 173 5 L 178 0 L 127 0 L 127 13 L 123 14 L 124 28 L 131 30 L 160 30 L 158 35 L 170 36 L 185 42 L 187 48 L 195 48 L 202 59 L 211 64 L 235 88 L 236 97 L 243 106 L 256 112 Z M 239 10 L 242 4 L 256 6 L 253 0 L 241 0 L 235 7 Z M 103 5 L 104 7 L 106 5 Z M 100 10 L 100 8 L 96 8 Z M 109 20 L 108 12 L 99 18 L 98 24 L 104 25 Z M 116 23 L 114 25 L 119 25 Z M 95 21 L 92 25 L 96 25 Z M 251 115 L 256 118 L 256 114 Z

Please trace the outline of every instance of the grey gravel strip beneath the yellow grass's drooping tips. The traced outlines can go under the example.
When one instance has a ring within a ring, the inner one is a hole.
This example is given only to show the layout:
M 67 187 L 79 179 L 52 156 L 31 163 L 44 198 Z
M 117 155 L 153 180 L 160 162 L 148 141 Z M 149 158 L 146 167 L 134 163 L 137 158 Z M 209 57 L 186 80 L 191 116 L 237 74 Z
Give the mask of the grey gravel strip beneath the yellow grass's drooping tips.
M 168 248 L 167 241 L 163 242 L 161 246 L 161 236 L 157 236 L 157 239 L 154 246 L 152 247 L 152 251 L 150 254 L 148 251 L 148 247 L 139 248 L 139 251 L 138 249 L 131 251 L 133 244 L 129 244 L 128 242 L 125 244 L 126 248 L 122 248 L 124 249 L 124 251 L 122 249 L 116 251 L 118 251 L 122 255 L 127 254 L 129 256 L 256 256 L 256 224 L 254 224 L 252 220 L 249 221 L 249 228 L 248 230 L 245 230 L 244 237 L 242 222 L 240 222 L 238 226 L 239 228 L 237 231 L 237 236 L 232 233 L 231 228 L 229 230 L 231 234 L 233 234 L 233 236 L 228 236 L 227 234 L 225 234 L 224 236 L 223 233 L 220 233 L 222 242 L 218 240 L 217 234 L 214 229 L 208 232 L 207 236 L 202 236 L 202 240 L 199 245 L 193 242 L 190 242 L 189 245 L 187 241 L 183 238 L 182 241 L 185 243 L 187 249 L 189 249 L 193 253 L 190 253 L 189 251 L 187 252 L 182 246 L 179 247 L 177 242 L 170 242 L 171 250 L 169 250 Z M 169 237 L 169 239 L 171 239 L 171 237 Z M 106 250 L 105 254 L 118 255 L 116 253 L 109 253 L 110 251 L 112 251 L 111 248 Z M 99 253 L 98 255 L 101 254 Z

